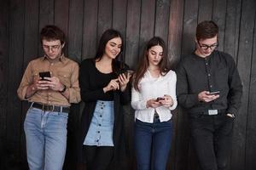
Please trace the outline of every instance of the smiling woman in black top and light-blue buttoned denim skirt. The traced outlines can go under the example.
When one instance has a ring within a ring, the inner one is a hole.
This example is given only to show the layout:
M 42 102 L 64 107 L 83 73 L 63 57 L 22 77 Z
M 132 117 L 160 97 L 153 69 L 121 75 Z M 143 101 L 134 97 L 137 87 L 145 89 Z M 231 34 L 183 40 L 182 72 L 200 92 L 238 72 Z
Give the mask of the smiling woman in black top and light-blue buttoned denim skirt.
M 119 31 L 102 34 L 94 59 L 84 59 L 79 83 L 84 101 L 82 138 L 87 170 L 119 169 L 123 139 L 121 105 L 130 101 L 131 75 L 120 73 L 124 67 L 118 58 L 123 49 Z M 126 65 L 127 66 L 127 65 Z

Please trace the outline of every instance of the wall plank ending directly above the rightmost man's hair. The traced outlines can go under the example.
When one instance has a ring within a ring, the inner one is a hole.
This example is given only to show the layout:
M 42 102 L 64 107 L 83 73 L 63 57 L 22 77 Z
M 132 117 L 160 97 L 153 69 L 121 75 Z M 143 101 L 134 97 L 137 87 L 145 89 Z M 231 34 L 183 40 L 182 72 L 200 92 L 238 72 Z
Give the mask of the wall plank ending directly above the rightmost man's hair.
M 212 20 L 212 0 L 203 0 L 198 3 L 198 23 L 203 20 Z

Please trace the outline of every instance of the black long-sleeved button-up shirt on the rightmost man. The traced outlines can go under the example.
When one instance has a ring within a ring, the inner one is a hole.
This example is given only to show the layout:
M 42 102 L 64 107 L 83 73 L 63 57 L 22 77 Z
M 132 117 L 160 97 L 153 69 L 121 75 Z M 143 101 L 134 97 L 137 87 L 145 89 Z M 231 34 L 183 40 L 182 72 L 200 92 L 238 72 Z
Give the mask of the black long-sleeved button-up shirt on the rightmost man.
M 220 91 L 219 98 L 200 102 L 198 94 L 202 91 Z M 230 54 L 215 50 L 207 58 L 201 58 L 193 53 L 177 67 L 177 99 L 191 113 L 218 109 L 236 114 L 241 94 L 241 79 Z

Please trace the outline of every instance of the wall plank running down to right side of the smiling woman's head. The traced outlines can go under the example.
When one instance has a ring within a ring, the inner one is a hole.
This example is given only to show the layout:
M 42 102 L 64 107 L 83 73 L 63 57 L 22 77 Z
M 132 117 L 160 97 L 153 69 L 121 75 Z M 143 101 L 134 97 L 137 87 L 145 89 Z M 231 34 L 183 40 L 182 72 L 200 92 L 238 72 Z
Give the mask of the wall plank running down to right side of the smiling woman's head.
M 126 14 L 127 0 L 113 0 L 113 29 L 118 30 L 122 34 L 122 37 L 124 39 L 123 55 L 125 55 Z

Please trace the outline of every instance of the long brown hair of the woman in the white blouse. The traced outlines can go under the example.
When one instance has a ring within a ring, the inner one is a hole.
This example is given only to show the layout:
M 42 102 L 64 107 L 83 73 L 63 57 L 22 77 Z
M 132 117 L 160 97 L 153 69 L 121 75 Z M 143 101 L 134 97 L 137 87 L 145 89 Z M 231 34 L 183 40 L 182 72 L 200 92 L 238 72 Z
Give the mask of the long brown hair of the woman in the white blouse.
M 163 48 L 163 58 L 160 60 L 159 69 L 160 74 L 164 76 L 166 72 L 170 70 L 170 62 L 166 55 L 166 43 L 160 37 L 151 38 L 146 47 L 144 48 L 143 57 L 140 59 L 139 65 L 137 65 L 137 70 L 133 78 L 133 87 L 139 91 L 138 82 L 143 78 L 145 72 L 148 69 L 148 50 L 154 46 L 160 45 Z

